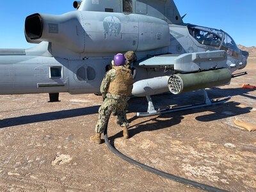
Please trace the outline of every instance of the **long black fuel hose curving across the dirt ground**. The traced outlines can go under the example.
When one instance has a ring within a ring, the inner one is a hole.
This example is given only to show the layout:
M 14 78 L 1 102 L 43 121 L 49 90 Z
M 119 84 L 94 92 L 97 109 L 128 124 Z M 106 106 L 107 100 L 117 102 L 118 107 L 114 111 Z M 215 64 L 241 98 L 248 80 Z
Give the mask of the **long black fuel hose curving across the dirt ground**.
M 105 143 L 108 146 L 108 148 L 111 150 L 111 152 L 116 154 L 116 156 L 119 156 L 122 159 L 124 159 L 125 161 L 128 161 L 131 164 L 134 164 L 134 165 L 136 165 L 136 166 L 138 166 L 140 168 L 143 168 L 144 170 L 147 170 L 148 172 L 155 173 L 156 175 L 159 175 L 161 177 L 166 177 L 167 179 L 172 179 L 172 180 L 175 180 L 175 181 L 180 182 L 182 184 L 193 186 L 195 188 L 204 189 L 205 191 L 218 191 L 218 192 L 226 191 L 224 189 L 214 188 L 212 186 L 208 186 L 208 185 L 205 185 L 205 184 L 193 181 L 193 180 L 184 179 L 182 177 L 178 177 L 178 176 L 172 175 L 170 173 L 162 172 L 160 170 L 157 170 L 155 168 L 147 166 L 146 164 L 142 164 L 142 163 L 140 163 L 138 161 L 135 161 L 134 159 L 131 159 L 130 157 L 125 156 L 124 154 L 122 154 L 120 151 L 118 151 L 115 147 L 113 147 L 109 143 L 109 140 L 108 140 L 108 123 L 107 123 L 106 129 L 104 131 L 104 140 L 105 140 Z

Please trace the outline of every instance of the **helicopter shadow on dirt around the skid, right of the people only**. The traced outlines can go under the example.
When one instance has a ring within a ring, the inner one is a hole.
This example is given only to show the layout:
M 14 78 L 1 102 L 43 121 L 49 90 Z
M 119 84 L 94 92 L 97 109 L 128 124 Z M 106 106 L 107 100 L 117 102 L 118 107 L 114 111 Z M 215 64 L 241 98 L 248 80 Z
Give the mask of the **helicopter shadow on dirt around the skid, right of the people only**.
M 241 95 L 247 97 L 249 99 L 256 99 L 252 95 L 247 95 L 248 93 L 252 92 L 253 90 L 248 90 L 244 88 L 228 88 L 228 89 L 220 89 L 220 88 L 212 88 L 207 90 L 207 93 L 211 99 L 216 99 L 220 97 L 227 97 L 227 96 L 234 96 L 234 95 Z M 188 104 L 200 103 L 204 100 L 204 96 L 202 95 L 201 91 L 196 92 L 189 92 L 183 93 L 180 95 L 173 95 L 172 93 L 166 93 L 162 95 L 155 95 L 152 96 L 153 103 L 155 108 L 170 108 L 170 105 L 174 106 L 186 106 Z M 163 102 L 168 102 L 169 104 L 163 104 Z M 177 105 L 179 103 L 179 105 Z M 181 122 L 181 120 L 186 115 L 191 114 L 200 114 L 195 117 L 196 120 L 200 122 L 212 122 L 215 120 L 221 120 L 223 118 L 229 118 L 232 116 L 243 115 L 246 113 L 250 113 L 253 109 L 251 107 L 241 108 L 239 107 L 241 103 L 228 101 L 223 104 L 218 104 L 216 106 L 207 106 L 204 108 L 196 108 L 196 109 L 187 109 L 184 111 L 176 111 L 175 113 L 164 113 L 163 115 L 152 116 L 152 118 L 148 117 L 147 120 L 140 122 L 140 124 L 132 125 L 129 127 L 130 136 L 134 136 L 143 131 L 155 131 L 158 129 L 164 129 L 166 127 L 171 127 L 172 125 L 177 125 Z M 146 111 L 147 108 L 147 99 L 143 97 L 134 97 L 129 101 L 129 112 L 138 112 L 138 111 Z M 207 114 L 202 113 L 207 112 Z M 210 112 L 210 113 L 209 113 Z M 166 118 L 166 120 L 159 120 L 157 118 Z M 133 116 L 129 122 L 132 120 L 136 120 L 137 116 Z M 147 124 L 147 122 L 150 122 Z M 153 122 L 153 123 L 152 123 Z M 131 130 L 131 131 L 130 131 Z M 118 134 L 114 135 L 112 138 L 122 137 L 122 132 L 118 132 Z

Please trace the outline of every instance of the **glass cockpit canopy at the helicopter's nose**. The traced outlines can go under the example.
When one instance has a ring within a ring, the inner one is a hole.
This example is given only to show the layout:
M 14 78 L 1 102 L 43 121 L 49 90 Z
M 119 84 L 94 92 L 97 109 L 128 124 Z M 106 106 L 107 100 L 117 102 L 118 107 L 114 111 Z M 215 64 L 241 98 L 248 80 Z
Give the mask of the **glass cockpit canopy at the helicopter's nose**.
M 191 36 L 202 45 L 218 47 L 220 50 L 227 51 L 230 56 L 238 57 L 239 48 L 230 35 L 225 31 L 205 28 L 201 26 L 188 25 Z

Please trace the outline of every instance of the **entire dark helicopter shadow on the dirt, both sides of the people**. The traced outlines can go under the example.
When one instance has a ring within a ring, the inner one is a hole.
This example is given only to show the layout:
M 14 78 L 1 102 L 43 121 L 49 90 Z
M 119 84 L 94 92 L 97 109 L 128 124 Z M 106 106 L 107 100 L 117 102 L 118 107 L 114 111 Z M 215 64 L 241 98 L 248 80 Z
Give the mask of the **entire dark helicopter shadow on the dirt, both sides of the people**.
M 223 91 L 224 90 L 224 91 Z M 211 99 L 219 98 L 219 97 L 227 97 L 228 95 L 241 95 L 244 97 L 248 97 L 249 99 L 256 99 L 252 95 L 248 95 L 248 93 L 252 92 L 253 90 L 244 89 L 244 88 L 228 88 L 228 89 L 220 89 L 220 88 L 212 88 L 207 90 L 209 97 Z M 180 95 L 173 95 L 172 93 L 166 93 L 162 95 L 154 95 L 152 96 L 152 100 L 155 104 L 155 107 L 168 107 L 165 103 L 169 103 L 171 105 L 177 105 L 177 103 L 181 105 L 186 105 L 193 103 L 202 102 L 204 99 L 202 92 L 189 92 L 183 93 Z M 184 115 L 189 115 L 193 113 L 201 113 L 204 111 L 212 111 L 212 114 L 209 115 L 201 115 L 197 116 L 196 120 L 202 122 L 209 122 L 213 120 L 219 120 L 221 118 L 227 118 L 230 116 L 241 115 L 245 113 L 250 113 L 252 108 L 239 108 L 239 102 L 226 102 L 224 104 L 220 104 L 218 106 L 209 106 L 206 108 L 199 108 L 199 109 L 188 109 L 186 111 L 179 111 L 175 112 L 175 118 L 172 113 L 160 115 L 161 117 L 166 117 L 167 120 L 157 120 L 156 117 L 150 118 L 150 121 L 154 120 L 156 123 L 154 125 L 142 125 L 143 129 L 146 131 L 154 131 L 157 129 L 163 129 L 165 127 L 170 127 L 174 124 L 179 124 L 180 120 L 183 118 Z M 58 120 L 63 118 L 72 118 L 75 116 L 84 116 L 84 115 L 91 115 L 97 113 L 99 106 L 90 106 L 87 108 L 79 108 L 79 109 L 69 109 L 63 111 L 54 111 L 50 113 L 40 113 L 36 115 L 26 115 L 26 116 L 18 116 L 13 118 L 6 118 L 0 120 L 0 129 L 5 127 L 13 127 L 16 125 L 24 125 L 24 124 L 32 124 L 36 122 L 45 122 L 49 120 Z M 138 111 L 145 111 L 147 110 L 147 99 L 145 97 L 134 97 L 129 100 L 129 113 L 138 112 Z M 137 117 L 136 117 L 137 118 Z M 132 119 L 131 119 L 132 120 Z M 130 120 L 130 121 L 131 121 Z M 164 125 L 161 124 L 163 122 Z M 139 125 L 138 125 L 139 126 Z M 137 126 L 137 127 L 138 127 Z M 131 127 L 130 127 L 131 129 Z M 140 131 L 135 131 L 140 132 Z

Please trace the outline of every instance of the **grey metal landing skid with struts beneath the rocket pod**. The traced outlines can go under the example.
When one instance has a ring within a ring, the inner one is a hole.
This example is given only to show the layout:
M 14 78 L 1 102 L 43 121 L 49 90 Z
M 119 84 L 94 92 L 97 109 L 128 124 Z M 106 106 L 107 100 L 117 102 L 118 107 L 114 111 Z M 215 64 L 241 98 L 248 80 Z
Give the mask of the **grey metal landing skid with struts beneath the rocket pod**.
M 221 104 L 223 102 L 226 102 L 227 100 L 231 99 L 230 96 L 225 97 L 223 99 L 217 99 L 217 100 L 211 100 L 208 97 L 208 94 L 206 92 L 205 89 L 202 89 L 202 92 L 204 94 L 204 102 L 202 104 L 194 104 L 194 105 L 188 105 L 188 106 L 180 106 L 177 108 L 169 108 L 169 109 L 155 109 L 154 108 L 154 104 L 152 102 L 152 99 L 150 96 L 146 96 L 147 97 L 147 101 L 148 101 L 148 110 L 147 112 L 138 112 L 137 116 L 139 117 L 143 117 L 143 116 L 152 116 L 152 115 L 161 115 L 163 113 L 172 113 L 172 112 L 176 112 L 176 111 L 184 111 L 186 109 L 196 109 L 196 108 L 203 108 L 206 106 L 214 106 L 216 104 Z

